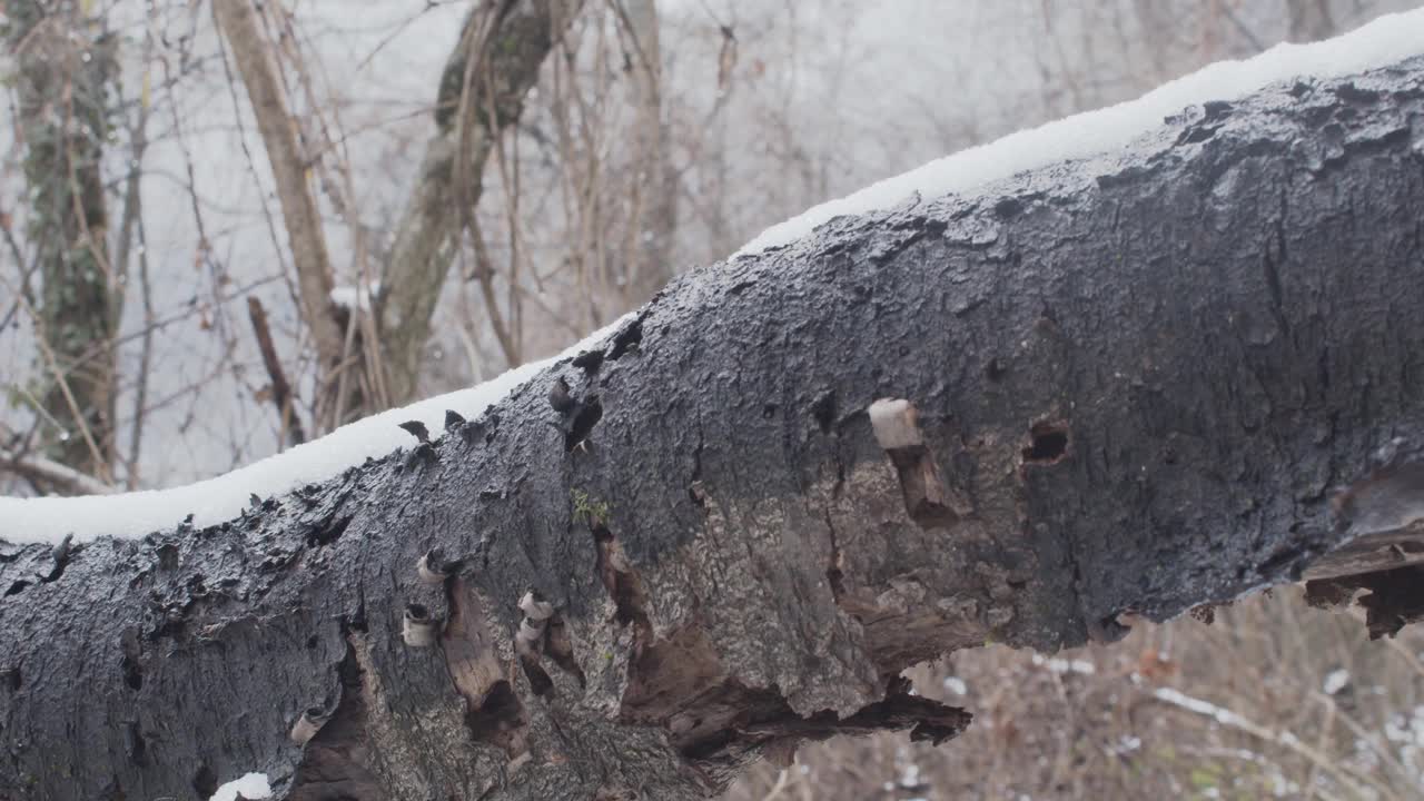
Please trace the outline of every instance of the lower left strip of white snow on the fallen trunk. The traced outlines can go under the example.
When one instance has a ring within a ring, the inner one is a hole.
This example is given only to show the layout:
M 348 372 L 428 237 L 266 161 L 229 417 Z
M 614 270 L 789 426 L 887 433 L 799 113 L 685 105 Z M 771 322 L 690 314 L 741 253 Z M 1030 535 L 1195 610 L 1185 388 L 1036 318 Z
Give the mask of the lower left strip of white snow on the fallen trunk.
M 494 379 L 468 389 L 419 400 L 345 425 L 332 433 L 289 450 L 238 467 L 204 482 L 171 489 L 128 492 L 121 495 L 85 495 L 78 497 L 0 497 L 0 540 L 13 543 L 61 542 L 74 534 L 77 542 L 103 536 L 142 537 L 150 532 L 171 529 L 192 515 L 195 527 L 214 526 L 236 517 L 251 506 L 249 497 L 266 499 L 308 483 L 326 480 L 366 458 L 380 458 L 414 439 L 399 423 L 420 420 L 433 438 L 444 430 L 446 409 L 467 420 L 480 416 L 515 388 L 558 359 L 592 348 L 632 319 L 628 312 L 612 324 L 570 346 L 562 353 L 520 365 Z

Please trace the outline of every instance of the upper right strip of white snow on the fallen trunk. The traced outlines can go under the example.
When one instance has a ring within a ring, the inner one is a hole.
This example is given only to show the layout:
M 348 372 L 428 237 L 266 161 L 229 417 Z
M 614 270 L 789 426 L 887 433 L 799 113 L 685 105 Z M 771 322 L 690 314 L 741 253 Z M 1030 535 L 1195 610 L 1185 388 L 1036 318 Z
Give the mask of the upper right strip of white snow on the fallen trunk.
M 968 194 L 1027 170 L 1099 155 L 1128 145 L 1159 127 L 1163 117 L 1188 105 L 1237 100 L 1294 77 L 1334 78 L 1387 67 L 1420 53 L 1424 53 L 1424 9 L 1383 16 L 1326 41 L 1277 44 L 1246 61 L 1219 61 L 1162 84 L 1138 100 L 1018 131 L 812 207 L 762 231 L 735 255 L 753 255 L 786 245 L 834 217 L 891 208 L 916 192 L 926 200 L 950 192 Z

